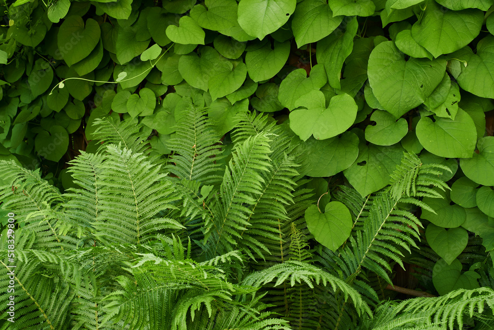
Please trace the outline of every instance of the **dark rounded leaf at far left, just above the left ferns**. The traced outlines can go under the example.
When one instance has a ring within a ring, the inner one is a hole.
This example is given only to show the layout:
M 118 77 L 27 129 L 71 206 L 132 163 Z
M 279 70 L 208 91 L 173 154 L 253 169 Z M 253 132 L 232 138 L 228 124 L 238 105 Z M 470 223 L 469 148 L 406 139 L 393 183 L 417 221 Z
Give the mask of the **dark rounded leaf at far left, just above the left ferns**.
M 67 152 L 69 134 L 59 125 L 50 127 L 50 132 L 42 131 L 36 136 L 35 148 L 41 157 L 58 162 Z

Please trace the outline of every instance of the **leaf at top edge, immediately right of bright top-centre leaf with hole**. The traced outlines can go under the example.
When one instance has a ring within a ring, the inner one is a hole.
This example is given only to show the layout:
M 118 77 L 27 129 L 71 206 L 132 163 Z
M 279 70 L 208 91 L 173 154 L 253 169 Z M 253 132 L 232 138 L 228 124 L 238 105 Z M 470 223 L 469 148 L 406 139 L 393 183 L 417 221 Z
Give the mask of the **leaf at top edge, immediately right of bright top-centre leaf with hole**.
M 305 44 L 323 39 L 333 32 L 342 20 L 343 16 L 333 17 L 333 12 L 325 0 L 300 2 L 291 21 L 291 29 L 297 46 L 300 48 Z

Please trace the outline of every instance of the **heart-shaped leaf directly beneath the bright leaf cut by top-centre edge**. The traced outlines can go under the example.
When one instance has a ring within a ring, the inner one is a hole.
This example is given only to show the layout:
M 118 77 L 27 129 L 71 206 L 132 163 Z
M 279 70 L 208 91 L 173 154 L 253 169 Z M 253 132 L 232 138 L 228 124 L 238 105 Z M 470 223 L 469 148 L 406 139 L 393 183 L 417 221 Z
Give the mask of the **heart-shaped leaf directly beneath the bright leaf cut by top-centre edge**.
M 247 51 L 246 65 L 247 72 L 254 82 L 273 78 L 287 63 L 290 54 L 290 43 L 274 43 L 274 49 L 271 44 L 266 43 L 263 47 Z

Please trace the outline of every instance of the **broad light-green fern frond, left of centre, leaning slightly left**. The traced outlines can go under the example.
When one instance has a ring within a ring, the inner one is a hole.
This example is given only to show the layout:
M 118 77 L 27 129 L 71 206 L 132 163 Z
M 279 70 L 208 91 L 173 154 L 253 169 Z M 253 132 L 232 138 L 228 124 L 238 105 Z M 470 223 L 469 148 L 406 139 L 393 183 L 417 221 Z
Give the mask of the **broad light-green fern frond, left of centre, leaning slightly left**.
M 142 154 L 109 145 L 101 165 L 101 212 L 93 222 L 95 236 L 114 243 L 144 243 L 158 237 L 162 229 L 183 228 L 177 221 L 155 217 L 174 208 L 178 199 L 173 186 L 165 180 L 160 165 Z

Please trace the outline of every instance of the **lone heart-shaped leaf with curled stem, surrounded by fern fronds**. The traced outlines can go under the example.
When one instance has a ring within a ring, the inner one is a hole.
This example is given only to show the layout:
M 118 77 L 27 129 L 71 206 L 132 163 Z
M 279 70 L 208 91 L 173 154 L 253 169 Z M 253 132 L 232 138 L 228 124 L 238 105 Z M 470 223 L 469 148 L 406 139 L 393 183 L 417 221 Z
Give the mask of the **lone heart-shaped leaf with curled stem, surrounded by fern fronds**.
M 329 202 L 324 213 L 319 212 L 316 205 L 305 210 L 307 228 L 314 238 L 331 251 L 336 251 L 350 236 L 352 216 L 348 208 L 341 202 Z

